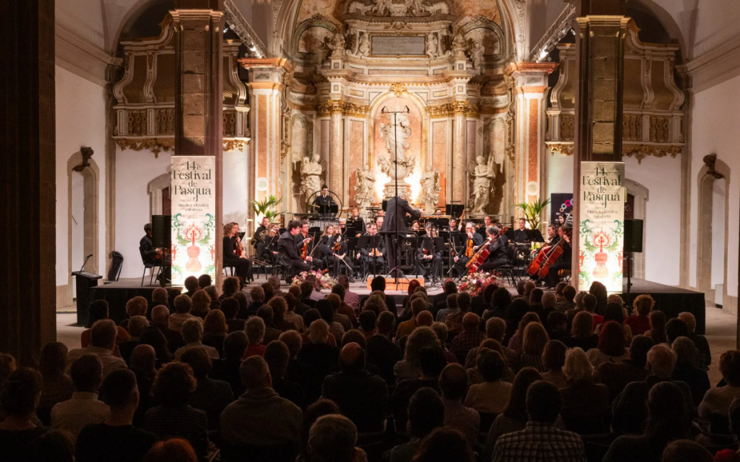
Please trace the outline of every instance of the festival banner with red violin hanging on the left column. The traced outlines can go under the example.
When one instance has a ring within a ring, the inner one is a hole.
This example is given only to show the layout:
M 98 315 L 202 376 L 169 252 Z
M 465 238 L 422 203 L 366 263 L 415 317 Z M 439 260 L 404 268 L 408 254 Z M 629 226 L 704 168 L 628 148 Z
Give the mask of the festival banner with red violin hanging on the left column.
M 172 156 L 172 285 L 216 276 L 215 166 L 214 156 Z

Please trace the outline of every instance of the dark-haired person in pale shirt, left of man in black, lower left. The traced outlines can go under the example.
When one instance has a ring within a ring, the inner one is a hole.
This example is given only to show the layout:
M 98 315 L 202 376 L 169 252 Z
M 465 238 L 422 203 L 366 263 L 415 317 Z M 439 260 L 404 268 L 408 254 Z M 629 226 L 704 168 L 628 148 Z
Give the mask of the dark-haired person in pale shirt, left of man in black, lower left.
M 99 424 L 110 417 L 110 408 L 98 401 L 98 388 L 103 383 L 103 365 L 98 356 L 84 355 L 75 359 L 70 376 L 75 393 L 52 408 L 51 424 L 77 438 L 85 425 Z

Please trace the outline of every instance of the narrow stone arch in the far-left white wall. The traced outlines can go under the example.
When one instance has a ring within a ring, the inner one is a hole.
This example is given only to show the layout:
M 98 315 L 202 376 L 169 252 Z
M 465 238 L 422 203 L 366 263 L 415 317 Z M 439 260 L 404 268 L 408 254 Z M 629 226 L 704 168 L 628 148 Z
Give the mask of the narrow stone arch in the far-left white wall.
M 69 276 L 67 279 L 67 305 L 72 304 L 72 271 L 79 271 L 79 268 L 73 268 L 72 259 L 73 259 L 73 240 L 72 240 L 72 201 L 73 201 L 73 194 L 72 194 L 72 174 L 76 173 L 77 171 L 73 170 L 77 166 L 81 166 L 84 163 L 84 159 L 82 157 L 81 151 L 75 152 L 70 156 L 70 158 L 67 160 L 67 268 L 69 268 Z M 98 164 L 95 163 L 95 160 L 88 157 L 87 158 L 87 166 L 84 166 L 84 169 L 79 171 L 79 173 L 82 175 L 83 182 L 84 182 L 84 197 L 83 197 L 83 203 L 84 203 L 84 243 L 83 243 L 83 249 L 85 255 L 92 254 L 92 257 L 90 257 L 90 260 L 88 260 L 87 264 L 85 265 L 85 271 L 88 273 L 94 273 L 99 274 L 98 271 L 100 268 L 98 268 L 98 262 L 100 260 L 99 255 L 99 237 L 100 233 L 98 232 L 99 229 L 99 223 L 100 223 L 100 217 L 99 212 L 100 208 L 98 205 L 98 197 L 100 194 L 100 169 L 98 168 Z

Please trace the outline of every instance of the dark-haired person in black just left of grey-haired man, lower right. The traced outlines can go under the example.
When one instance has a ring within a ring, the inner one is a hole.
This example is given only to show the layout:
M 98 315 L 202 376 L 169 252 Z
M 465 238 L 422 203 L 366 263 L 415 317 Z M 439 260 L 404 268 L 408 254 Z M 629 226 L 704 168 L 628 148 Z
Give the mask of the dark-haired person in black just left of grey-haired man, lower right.
M 633 381 L 644 381 L 647 378 L 647 352 L 655 344 L 650 337 L 634 336 L 630 344 L 630 356 L 620 362 L 605 362 L 596 367 L 593 381 L 605 384 L 609 389 L 609 402 L 625 390 L 627 384 Z

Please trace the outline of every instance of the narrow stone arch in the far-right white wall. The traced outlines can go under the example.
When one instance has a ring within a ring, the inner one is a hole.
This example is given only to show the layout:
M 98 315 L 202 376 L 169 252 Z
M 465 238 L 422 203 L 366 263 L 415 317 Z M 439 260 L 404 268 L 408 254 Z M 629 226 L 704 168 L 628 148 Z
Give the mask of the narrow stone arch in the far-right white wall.
M 707 156 L 709 157 L 709 156 Z M 706 158 L 705 157 L 705 162 Z M 697 197 L 696 210 L 696 289 L 704 292 L 707 300 L 716 300 L 716 294 L 712 285 L 712 254 L 714 242 L 712 236 L 713 222 L 713 187 L 716 181 L 724 180 L 724 217 L 729 217 L 728 193 L 730 191 L 730 167 L 719 159 L 714 161 L 713 166 L 704 165 L 699 170 L 697 176 L 697 188 L 699 194 Z M 724 255 L 727 256 L 727 244 L 729 234 L 729 221 L 724 220 L 724 242 L 721 245 L 724 248 Z M 724 275 L 722 277 L 722 299 L 727 297 L 727 258 L 724 260 Z

